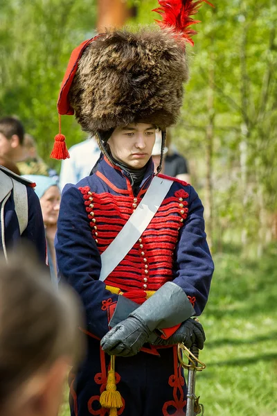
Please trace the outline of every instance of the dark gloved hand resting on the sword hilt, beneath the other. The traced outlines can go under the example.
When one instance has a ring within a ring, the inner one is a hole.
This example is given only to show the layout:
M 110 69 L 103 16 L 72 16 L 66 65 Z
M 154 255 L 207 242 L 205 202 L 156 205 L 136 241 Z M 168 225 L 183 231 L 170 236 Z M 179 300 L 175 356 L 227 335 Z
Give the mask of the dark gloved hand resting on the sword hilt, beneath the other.
M 205 332 L 200 322 L 189 318 L 181 324 L 170 338 L 163 340 L 157 333 L 152 332 L 148 338 L 148 342 L 152 345 L 176 345 L 184 343 L 187 348 L 196 344 L 199 349 L 203 349 L 206 340 Z

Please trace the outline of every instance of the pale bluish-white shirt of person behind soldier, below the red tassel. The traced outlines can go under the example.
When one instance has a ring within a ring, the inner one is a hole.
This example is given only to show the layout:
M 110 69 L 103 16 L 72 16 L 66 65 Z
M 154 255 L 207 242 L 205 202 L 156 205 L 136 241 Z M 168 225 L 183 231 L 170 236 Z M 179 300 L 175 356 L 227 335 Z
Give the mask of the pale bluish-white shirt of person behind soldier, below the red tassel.
M 66 184 L 77 184 L 88 176 L 98 161 L 100 150 L 94 137 L 75 144 L 69 149 L 70 159 L 62 160 L 60 171 L 60 189 Z

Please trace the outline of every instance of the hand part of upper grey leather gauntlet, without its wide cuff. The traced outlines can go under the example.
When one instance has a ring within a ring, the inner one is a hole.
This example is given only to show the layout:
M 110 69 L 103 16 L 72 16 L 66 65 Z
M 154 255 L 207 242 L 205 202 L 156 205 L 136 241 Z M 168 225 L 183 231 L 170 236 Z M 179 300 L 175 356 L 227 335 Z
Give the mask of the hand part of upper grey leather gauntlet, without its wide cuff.
M 150 329 L 143 320 L 129 316 L 112 328 L 101 340 L 101 347 L 109 355 L 130 357 L 136 355 L 148 342 Z

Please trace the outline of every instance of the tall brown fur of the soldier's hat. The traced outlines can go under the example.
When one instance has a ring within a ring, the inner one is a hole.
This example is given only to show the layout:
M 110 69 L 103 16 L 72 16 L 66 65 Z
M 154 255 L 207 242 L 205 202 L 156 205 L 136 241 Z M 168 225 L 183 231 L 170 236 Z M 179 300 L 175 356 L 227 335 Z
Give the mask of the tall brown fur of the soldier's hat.
M 139 121 L 165 129 L 177 121 L 187 80 L 184 42 L 170 30 L 107 31 L 82 53 L 69 101 L 91 135 Z

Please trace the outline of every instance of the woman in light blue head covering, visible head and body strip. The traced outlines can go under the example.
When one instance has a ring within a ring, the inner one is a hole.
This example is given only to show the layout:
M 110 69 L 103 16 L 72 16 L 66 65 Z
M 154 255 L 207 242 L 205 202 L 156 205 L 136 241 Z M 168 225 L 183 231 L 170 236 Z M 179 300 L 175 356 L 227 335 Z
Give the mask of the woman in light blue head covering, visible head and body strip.
M 48 266 L 51 280 L 57 287 L 57 267 L 54 239 L 57 232 L 57 216 L 60 209 L 60 189 L 52 177 L 43 175 L 24 175 L 31 182 L 35 182 L 35 193 L 39 197 L 44 221 Z

